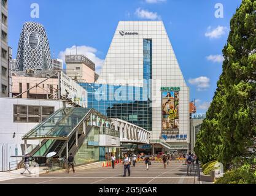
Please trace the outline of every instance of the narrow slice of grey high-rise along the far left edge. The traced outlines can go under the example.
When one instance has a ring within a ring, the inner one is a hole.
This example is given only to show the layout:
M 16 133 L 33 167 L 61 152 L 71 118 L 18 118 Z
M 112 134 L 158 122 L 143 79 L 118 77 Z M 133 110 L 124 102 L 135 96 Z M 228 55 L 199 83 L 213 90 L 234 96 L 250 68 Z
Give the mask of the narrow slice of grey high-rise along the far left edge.
M 8 68 L 8 43 L 7 43 L 7 35 L 8 35 L 8 25 L 7 25 L 7 17 L 8 17 L 8 2 L 7 0 L 2 0 L 2 4 L 0 6 L 1 12 L 1 41 L 0 41 L 0 97 L 8 97 L 9 94 L 9 68 Z

